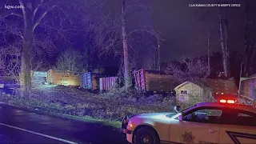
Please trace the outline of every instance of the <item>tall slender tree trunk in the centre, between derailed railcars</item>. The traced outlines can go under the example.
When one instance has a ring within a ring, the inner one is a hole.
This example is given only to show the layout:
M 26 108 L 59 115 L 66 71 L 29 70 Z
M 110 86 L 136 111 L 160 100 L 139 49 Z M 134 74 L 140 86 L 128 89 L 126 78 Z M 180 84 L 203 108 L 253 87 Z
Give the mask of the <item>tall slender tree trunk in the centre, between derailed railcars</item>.
M 128 42 L 126 34 L 126 18 L 125 18 L 126 0 L 122 0 L 122 46 L 123 46 L 123 62 L 124 62 L 124 78 L 126 89 L 130 87 L 130 63 L 128 54 Z

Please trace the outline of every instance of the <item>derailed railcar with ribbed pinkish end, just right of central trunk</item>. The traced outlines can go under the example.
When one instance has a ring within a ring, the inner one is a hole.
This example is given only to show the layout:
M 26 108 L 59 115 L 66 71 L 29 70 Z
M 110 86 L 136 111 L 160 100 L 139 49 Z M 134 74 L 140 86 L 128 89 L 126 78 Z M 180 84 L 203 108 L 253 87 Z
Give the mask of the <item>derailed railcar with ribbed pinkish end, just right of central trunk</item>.
M 175 95 L 174 87 L 178 86 L 173 76 L 157 70 L 137 70 L 134 74 L 135 88 L 146 94 Z

